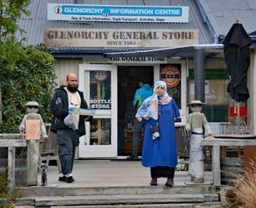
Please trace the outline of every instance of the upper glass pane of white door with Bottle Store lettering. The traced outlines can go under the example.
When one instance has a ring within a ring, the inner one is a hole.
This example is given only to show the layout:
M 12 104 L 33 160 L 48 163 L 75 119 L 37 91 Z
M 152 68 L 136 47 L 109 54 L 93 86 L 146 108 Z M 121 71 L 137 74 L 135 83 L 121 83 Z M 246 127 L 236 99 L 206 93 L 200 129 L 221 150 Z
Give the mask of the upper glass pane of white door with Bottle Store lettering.
M 110 83 L 110 71 L 90 71 L 90 109 L 111 109 Z

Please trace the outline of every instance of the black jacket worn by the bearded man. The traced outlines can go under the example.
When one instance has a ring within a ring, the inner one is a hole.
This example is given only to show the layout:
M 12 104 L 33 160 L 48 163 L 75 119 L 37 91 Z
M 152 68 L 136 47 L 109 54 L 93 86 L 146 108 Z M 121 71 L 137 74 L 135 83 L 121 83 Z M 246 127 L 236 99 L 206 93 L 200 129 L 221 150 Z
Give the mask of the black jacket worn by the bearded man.
M 81 109 L 87 109 L 87 103 L 83 97 L 83 93 L 78 90 L 81 98 Z M 50 126 L 50 131 L 56 133 L 57 129 L 70 128 L 64 124 L 64 119 L 68 116 L 68 93 L 63 87 L 55 89 L 53 98 L 50 101 L 50 110 L 53 113 L 53 121 Z M 78 133 L 80 136 L 85 135 L 85 117 L 80 116 L 78 124 Z

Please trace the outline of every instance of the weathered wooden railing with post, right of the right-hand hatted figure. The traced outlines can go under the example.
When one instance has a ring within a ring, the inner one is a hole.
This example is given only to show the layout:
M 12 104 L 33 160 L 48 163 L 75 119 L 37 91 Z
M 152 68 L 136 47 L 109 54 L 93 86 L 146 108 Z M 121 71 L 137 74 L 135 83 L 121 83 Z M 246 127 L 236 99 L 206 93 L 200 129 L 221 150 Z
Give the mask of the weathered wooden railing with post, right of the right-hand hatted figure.
M 237 135 L 236 138 L 213 138 L 201 141 L 204 146 L 210 146 L 213 148 L 213 186 L 220 187 L 220 146 L 255 146 L 255 138 L 255 135 Z

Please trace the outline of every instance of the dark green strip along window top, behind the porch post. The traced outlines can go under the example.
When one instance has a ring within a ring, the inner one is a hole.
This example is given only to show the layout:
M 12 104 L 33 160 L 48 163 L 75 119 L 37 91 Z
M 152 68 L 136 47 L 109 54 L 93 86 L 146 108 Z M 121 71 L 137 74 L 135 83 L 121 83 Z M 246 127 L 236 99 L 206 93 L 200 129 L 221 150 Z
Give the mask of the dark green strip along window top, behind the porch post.
M 194 79 L 194 70 L 189 69 L 188 71 L 189 79 Z M 218 78 L 218 79 L 228 79 L 228 70 L 227 69 L 206 69 L 205 77 L 209 78 Z

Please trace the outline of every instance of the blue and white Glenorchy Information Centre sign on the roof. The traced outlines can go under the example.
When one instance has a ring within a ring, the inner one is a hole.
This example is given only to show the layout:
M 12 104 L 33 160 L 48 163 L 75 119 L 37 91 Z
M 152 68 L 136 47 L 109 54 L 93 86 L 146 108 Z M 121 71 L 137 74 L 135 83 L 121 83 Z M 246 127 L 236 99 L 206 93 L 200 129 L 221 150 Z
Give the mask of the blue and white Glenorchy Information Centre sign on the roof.
M 48 20 L 188 23 L 188 6 L 48 4 Z

